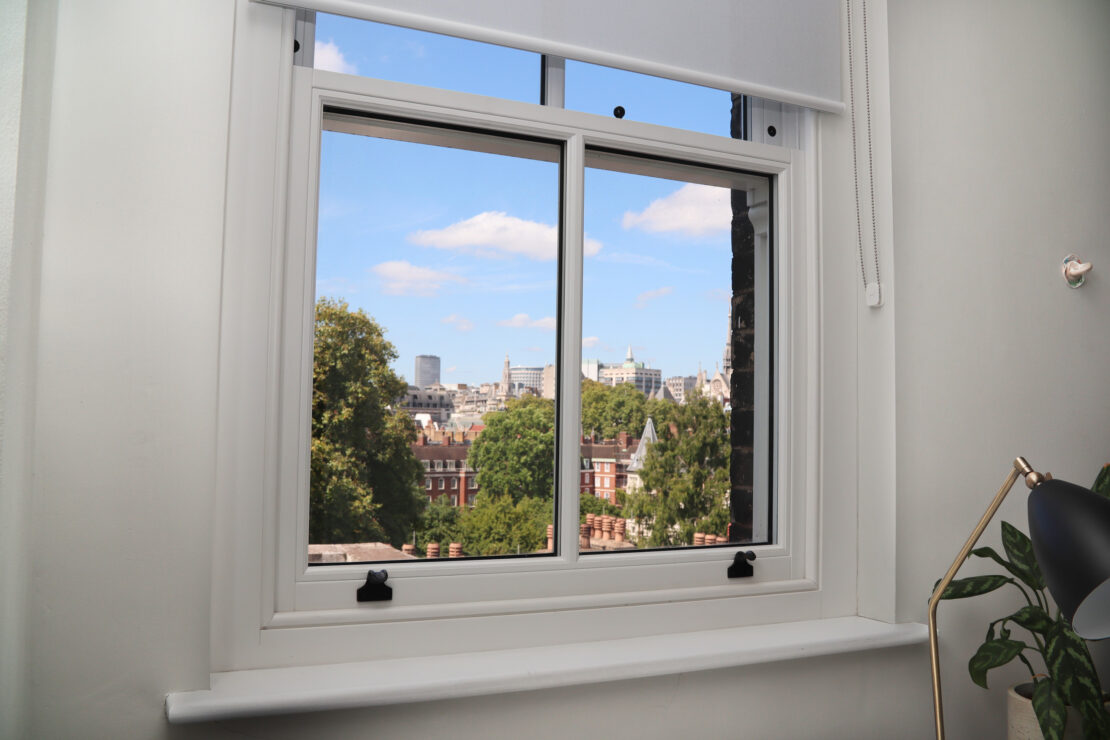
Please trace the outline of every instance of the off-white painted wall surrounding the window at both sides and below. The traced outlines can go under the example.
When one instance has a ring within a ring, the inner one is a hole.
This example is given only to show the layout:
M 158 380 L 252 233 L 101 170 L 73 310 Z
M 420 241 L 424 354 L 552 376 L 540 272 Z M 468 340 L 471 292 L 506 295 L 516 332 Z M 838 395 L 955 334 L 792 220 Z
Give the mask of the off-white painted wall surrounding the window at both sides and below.
M 1099 339 L 1110 290 L 1098 271 L 1110 272 L 1110 6 L 915 0 L 892 1 L 889 16 L 898 611 L 920 620 L 1013 455 L 1080 479 L 1108 455 L 1110 349 Z M 208 678 L 231 40 L 232 4 L 220 0 L 58 12 L 27 427 L 29 737 L 930 737 L 920 648 L 167 726 L 163 695 Z M 827 119 L 824 301 L 850 313 L 847 145 L 846 121 Z M 1096 263 L 1081 291 L 1058 276 L 1073 251 Z M 855 358 L 826 351 L 829 372 L 849 377 Z M 850 420 L 846 398 L 826 413 Z M 942 607 L 952 737 L 1002 737 L 1000 691 L 976 689 L 962 669 L 985 608 Z M 603 713 L 613 719 L 593 719 Z

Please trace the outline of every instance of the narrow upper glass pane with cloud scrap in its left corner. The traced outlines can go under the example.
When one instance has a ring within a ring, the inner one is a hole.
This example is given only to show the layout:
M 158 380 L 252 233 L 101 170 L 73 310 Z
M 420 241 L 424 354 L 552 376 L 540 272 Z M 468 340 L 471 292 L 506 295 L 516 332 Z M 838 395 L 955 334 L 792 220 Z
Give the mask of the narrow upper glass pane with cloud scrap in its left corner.
M 539 102 L 539 54 L 316 13 L 317 70 Z

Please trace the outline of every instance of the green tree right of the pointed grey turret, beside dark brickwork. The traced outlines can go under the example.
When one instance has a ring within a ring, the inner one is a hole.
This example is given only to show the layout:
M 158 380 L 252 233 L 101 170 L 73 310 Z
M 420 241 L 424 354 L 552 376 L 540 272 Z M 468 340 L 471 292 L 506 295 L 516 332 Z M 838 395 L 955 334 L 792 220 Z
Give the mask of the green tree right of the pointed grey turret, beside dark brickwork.
M 625 513 L 650 529 L 650 547 L 689 545 L 695 531 L 725 534 L 728 527 L 728 417 L 710 398 L 694 395 L 675 405 L 672 422 L 657 427 L 647 450 L 643 490 L 627 496 Z

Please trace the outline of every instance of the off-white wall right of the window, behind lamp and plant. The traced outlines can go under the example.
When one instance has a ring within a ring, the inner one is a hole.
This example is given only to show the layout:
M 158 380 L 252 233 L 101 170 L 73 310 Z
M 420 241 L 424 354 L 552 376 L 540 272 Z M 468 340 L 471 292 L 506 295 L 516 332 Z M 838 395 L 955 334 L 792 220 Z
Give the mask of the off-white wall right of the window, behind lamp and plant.
M 889 14 L 899 618 L 920 620 L 1015 456 L 1083 485 L 1110 459 L 1110 3 L 891 1 Z M 1060 276 L 1070 252 L 1094 264 L 1080 290 Z M 1021 490 L 1000 518 L 1025 529 Z M 940 606 L 958 737 L 1000 737 L 1021 671 L 987 692 L 966 666 L 1016 596 Z

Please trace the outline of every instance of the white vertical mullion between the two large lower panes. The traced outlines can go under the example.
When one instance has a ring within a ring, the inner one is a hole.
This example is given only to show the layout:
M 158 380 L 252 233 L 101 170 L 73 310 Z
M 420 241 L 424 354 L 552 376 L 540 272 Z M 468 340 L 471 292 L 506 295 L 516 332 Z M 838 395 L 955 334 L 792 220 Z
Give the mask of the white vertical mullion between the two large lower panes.
M 578 559 L 578 456 L 582 430 L 582 261 L 585 241 L 585 143 L 571 136 L 563 150 L 558 354 L 558 553 Z

